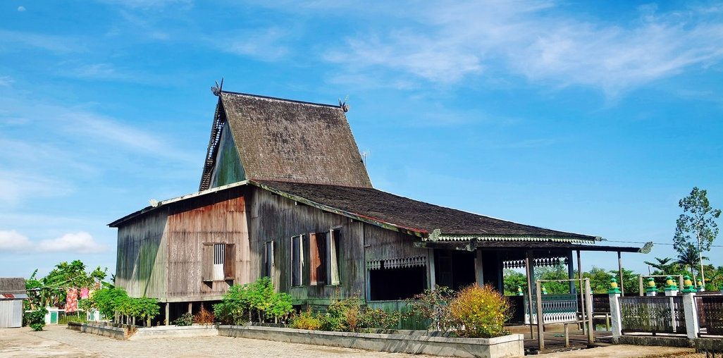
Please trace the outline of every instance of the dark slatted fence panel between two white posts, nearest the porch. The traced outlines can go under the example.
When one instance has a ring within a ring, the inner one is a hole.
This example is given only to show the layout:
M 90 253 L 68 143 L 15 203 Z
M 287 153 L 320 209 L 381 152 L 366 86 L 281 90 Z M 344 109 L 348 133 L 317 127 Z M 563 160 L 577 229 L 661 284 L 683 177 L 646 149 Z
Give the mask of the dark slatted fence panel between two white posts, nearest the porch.
M 625 332 L 685 333 L 683 297 L 620 297 Z

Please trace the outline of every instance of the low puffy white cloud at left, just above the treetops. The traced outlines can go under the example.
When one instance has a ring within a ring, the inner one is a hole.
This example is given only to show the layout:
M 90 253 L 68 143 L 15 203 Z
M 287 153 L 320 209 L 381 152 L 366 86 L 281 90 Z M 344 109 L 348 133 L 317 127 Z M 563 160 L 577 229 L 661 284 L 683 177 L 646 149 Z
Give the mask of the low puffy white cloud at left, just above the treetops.
M 55 239 L 33 242 L 27 236 L 14 230 L 0 231 L 0 251 L 31 253 L 31 252 L 73 252 L 93 254 L 104 252 L 106 245 L 95 242 L 87 232 L 64 234 Z

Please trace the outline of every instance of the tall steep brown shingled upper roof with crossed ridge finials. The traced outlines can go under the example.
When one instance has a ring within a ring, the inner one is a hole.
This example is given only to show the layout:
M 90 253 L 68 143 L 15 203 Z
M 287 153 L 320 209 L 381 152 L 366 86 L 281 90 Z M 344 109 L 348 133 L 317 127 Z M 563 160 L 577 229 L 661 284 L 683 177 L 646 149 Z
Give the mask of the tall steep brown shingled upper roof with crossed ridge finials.
M 222 91 L 200 190 L 211 187 L 214 150 L 226 128 L 242 179 L 372 187 L 340 106 Z

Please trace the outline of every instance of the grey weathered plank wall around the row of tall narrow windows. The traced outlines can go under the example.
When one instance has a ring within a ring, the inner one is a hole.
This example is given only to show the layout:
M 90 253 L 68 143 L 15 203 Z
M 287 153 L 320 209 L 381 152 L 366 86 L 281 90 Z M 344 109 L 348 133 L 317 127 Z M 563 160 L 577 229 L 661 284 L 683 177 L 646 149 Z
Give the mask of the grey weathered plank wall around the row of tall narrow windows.
M 365 295 L 364 225 L 345 216 L 325 213 L 293 200 L 254 188 L 249 200 L 249 232 L 252 247 L 252 276 L 261 277 L 264 265 L 264 244 L 274 242 L 273 283 L 276 289 L 288 292 L 297 304 L 328 304 L 335 297 Z M 339 285 L 310 284 L 309 234 L 328 233 L 338 229 Z M 304 235 L 304 270 L 302 286 L 291 286 L 291 237 Z

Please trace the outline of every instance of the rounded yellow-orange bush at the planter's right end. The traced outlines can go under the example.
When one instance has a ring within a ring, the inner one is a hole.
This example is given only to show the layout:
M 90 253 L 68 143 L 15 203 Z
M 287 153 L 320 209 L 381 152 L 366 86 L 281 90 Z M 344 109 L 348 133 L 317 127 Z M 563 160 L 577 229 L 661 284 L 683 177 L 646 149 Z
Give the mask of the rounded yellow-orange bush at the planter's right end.
M 449 308 L 460 336 L 492 338 L 505 335 L 510 303 L 491 285 L 472 284 L 461 289 Z

